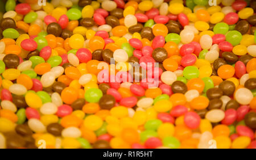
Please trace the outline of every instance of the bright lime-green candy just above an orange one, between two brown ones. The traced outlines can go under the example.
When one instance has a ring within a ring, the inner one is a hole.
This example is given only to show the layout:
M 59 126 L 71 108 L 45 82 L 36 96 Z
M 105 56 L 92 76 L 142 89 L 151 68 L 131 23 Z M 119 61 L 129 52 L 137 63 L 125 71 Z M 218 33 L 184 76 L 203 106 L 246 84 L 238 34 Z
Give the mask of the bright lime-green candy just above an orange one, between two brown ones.
M 98 102 L 102 97 L 102 91 L 100 89 L 89 89 L 85 92 L 85 100 L 90 103 Z

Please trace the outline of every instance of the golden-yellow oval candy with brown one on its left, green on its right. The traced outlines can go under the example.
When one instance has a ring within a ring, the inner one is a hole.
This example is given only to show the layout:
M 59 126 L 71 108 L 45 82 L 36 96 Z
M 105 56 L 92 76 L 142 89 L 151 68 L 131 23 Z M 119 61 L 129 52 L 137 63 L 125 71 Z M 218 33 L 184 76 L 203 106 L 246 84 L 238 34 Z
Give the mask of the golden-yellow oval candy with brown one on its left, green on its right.
M 34 94 L 34 92 L 28 92 L 25 95 L 25 100 L 29 107 L 40 108 L 42 106 L 42 100 L 38 95 Z

